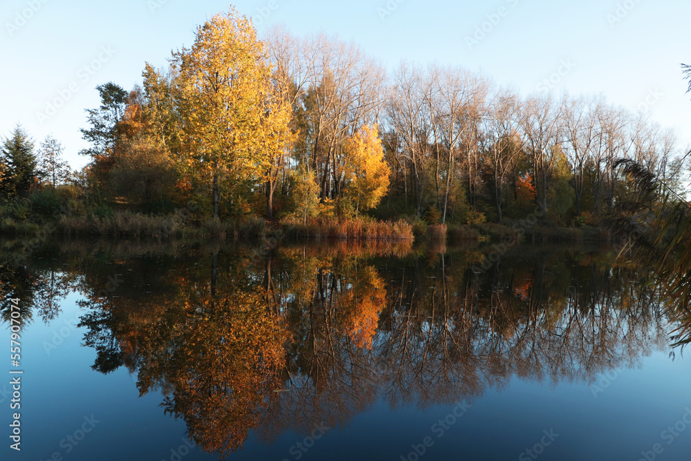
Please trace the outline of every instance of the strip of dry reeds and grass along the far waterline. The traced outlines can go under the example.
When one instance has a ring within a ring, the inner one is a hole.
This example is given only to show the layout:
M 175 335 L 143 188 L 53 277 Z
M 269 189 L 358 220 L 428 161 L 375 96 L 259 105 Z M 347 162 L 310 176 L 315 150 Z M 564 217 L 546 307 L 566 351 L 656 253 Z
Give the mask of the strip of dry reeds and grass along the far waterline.
M 182 214 L 150 216 L 121 211 L 107 216 L 53 216 L 39 222 L 30 218 L 0 219 L 0 234 L 36 236 L 55 234 L 108 238 L 263 238 L 281 232 L 292 239 L 334 239 L 339 241 L 460 241 L 526 243 L 610 241 L 612 236 L 596 227 L 557 227 L 538 223 L 481 223 L 475 225 L 426 225 L 423 221 L 382 221 L 369 217 L 348 219 L 312 218 L 305 223 L 285 218 L 270 223 L 262 218 L 234 220 L 191 220 Z

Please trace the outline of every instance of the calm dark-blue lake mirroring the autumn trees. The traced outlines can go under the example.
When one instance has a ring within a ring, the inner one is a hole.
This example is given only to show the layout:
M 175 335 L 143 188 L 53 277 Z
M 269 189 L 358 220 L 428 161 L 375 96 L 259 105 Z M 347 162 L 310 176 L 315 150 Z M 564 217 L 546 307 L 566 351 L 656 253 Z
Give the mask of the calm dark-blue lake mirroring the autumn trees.
M 617 253 L 4 242 L 2 459 L 688 460 L 679 325 Z

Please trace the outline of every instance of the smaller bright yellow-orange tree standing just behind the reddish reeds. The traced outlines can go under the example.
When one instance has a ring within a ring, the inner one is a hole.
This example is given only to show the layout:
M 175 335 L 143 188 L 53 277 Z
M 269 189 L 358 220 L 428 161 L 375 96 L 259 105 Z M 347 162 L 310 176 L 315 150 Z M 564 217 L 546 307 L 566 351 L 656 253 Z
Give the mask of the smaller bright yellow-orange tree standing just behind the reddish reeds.
M 359 211 L 377 207 L 388 191 L 390 174 L 377 125 L 363 126 L 345 141 L 343 150 L 345 196 Z

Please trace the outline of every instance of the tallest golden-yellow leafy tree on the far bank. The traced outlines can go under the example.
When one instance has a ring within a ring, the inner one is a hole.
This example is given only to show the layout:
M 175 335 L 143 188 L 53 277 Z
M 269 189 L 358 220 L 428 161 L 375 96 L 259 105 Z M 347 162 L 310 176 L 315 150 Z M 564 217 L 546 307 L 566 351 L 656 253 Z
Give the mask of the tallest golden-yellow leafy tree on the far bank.
M 211 180 L 218 218 L 221 182 L 228 194 L 247 194 L 267 180 L 290 140 L 291 108 L 272 84 L 252 23 L 233 8 L 199 26 L 194 44 L 173 53 L 171 64 L 187 167 Z

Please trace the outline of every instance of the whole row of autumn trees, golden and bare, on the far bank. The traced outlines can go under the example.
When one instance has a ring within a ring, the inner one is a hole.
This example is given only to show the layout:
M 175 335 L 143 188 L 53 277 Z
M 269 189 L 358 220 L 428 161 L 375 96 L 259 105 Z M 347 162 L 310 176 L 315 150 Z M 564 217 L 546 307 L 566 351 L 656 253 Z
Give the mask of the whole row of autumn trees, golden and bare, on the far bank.
M 52 139 L 39 167 L 17 128 L 3 142 L 6 198 L 50 185 L 76 214 L 187 209 L 304 225 L 510 225 L 540 207 L 555 225 L 595 225 L 630 193 L 620 160 L 679 194 L 687 171 L 674 131 L 603 96 L 523 97 L 460 66 L 401 62 L 387 73 L 339 37 L 283 27 L 258 37 L 232 8 L 142 77 L 131 91 L 97 87 L 79 173 L 66 173 Z

